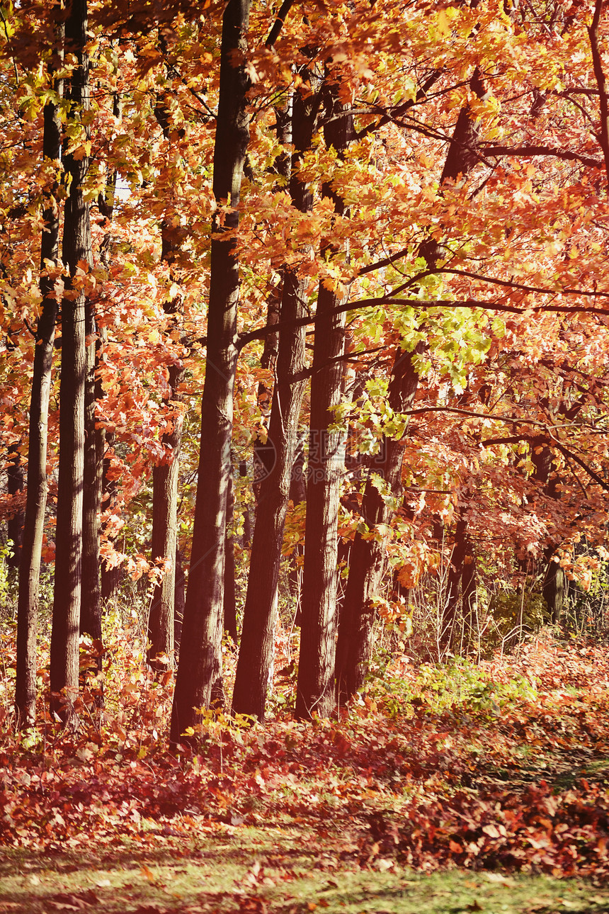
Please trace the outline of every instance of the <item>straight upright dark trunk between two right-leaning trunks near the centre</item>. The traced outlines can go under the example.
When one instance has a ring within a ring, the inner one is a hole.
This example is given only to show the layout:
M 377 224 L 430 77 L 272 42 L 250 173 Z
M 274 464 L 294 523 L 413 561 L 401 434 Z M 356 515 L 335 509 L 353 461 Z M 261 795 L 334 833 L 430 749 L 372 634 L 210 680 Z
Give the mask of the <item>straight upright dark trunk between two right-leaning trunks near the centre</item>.
M 352 115 L 338 100 L 338 86 L 327 89 L 324 130 L 326 145 L 344 154 L 353 136 Z M 324 197 L 334 202 L 342 216 L 344 202 L 330 185 Z M 329 240 L 321 259 L 337 252 Z M 296 697 L 298 717 L 313 712 L 328 717 L 334 707 L 336 657 L 336 601 L 338 588 L 338 518 L 341 478 L 344 472 L 344 435 L 330 431 L 334 407 L 341 401 L 346 313 L 335 314 L 341 297 L 320 282 L 315 317 L 313 373 L 310 383 L 309 473 L 307 525 L 300 620 L 300 656 Z

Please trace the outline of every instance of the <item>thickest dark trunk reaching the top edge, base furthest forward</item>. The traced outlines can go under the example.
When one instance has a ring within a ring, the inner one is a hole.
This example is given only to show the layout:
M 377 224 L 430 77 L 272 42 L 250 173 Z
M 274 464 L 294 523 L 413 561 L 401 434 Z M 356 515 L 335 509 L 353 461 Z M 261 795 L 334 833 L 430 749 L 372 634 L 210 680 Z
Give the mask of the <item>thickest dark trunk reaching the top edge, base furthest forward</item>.
M 207 314 L 205 387 L 201 403 L 194 532 L 180 664 L 173 696 L 170 739 L 192 740 L 196 709 L 223 700 L 222 618 L 226 540 L 226 491 L 236 373 L 238 260 L 231 234 L 249 140 L 248 80 L 242 58 L 250 0 L 228 0 L 220 51 L 220 97 L 215 130 L 214 217 Z M 230 207 L 228 211 L 224 207 Z M 224 219 L 224 221 L 223 221 Z M 226 237 L 226 234 L 228 237 Z M 185 731 L 188 729 L 188 733 Z

